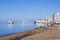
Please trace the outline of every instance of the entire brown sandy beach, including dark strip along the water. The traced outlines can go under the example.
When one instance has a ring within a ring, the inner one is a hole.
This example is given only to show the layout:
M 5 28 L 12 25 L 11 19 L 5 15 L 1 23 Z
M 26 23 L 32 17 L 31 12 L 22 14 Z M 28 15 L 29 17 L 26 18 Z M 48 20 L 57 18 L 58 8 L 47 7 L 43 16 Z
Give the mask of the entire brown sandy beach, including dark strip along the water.
M 60 38 L 60 29 L 51 26 L 0 37 L 0 40 L 55 40 L 57 38 Z

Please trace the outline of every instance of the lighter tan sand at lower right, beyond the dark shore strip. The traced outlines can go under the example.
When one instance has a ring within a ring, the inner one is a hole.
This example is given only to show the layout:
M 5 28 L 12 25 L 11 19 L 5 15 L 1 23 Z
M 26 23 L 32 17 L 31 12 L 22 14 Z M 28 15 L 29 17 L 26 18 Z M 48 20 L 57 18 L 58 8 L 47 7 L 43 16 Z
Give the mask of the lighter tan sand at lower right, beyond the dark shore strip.
M 60 29 L 58 27 L 49 27 L 49 30 L 35 34 L 21 40 L 60 40 Z

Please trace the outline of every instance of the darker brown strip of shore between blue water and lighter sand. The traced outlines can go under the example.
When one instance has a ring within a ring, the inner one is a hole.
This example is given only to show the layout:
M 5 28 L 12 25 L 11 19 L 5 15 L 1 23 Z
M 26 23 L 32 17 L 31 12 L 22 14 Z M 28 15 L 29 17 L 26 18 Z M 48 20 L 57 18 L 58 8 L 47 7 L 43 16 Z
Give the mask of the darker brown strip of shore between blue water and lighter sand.
M 35 28 L 34 30 L 29 30 L 29 31 L 25 31 L 25 32 L 20 32 L 20 33 L 16 33 L 16 34 L 3 36 L 3 37 L 0 37 L 0 39 L 3 39 L 3 40 L 16 40 L 16 39 L 18 39 L 18 40 L 20 40 L 23 37 L 38 34 L 38 33 L 41 33 L 43 31 L 45 31 L 45 29 Z

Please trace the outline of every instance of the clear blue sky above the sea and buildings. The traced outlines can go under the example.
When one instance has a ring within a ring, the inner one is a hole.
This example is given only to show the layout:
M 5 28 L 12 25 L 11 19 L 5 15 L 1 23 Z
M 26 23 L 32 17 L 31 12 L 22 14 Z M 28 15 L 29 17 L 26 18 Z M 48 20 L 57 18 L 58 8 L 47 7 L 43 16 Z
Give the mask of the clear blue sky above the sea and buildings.
M 0 0 L 0 20 L 41 19 L 60 12 L 60 0 Z

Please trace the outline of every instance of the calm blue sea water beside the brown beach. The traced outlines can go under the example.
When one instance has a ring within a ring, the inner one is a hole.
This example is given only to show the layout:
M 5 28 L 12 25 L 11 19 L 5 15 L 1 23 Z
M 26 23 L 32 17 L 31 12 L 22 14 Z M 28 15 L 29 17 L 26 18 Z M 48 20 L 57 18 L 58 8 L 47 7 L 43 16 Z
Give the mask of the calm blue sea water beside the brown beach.
M 33 30 L 34 28 L 36 28 L 34 24 L 23 25 L 23 24 L 0 23 L 0 36 Z

